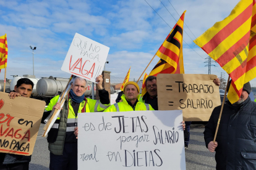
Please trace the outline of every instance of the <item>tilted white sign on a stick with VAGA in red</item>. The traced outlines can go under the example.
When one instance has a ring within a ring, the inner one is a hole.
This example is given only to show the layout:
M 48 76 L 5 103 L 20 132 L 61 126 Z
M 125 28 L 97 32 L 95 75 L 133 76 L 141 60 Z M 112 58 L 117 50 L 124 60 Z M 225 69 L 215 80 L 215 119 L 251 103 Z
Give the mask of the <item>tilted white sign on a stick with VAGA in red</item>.
M 109 47 L 75 33 L 61 70 L 94 83 L 103 71 Z

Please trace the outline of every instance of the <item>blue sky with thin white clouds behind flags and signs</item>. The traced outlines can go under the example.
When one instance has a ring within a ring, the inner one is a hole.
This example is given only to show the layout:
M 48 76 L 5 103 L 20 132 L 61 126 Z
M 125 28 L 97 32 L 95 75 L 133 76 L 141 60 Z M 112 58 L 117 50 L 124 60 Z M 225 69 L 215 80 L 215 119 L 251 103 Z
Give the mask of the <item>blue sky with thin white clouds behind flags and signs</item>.
M 229 15 L 239 0 L 147 0 L 171 28 L 179 15 L 187 10 L 184 25 L 185 73 L 208 74 L 208 55 L 195 46 L 200 36 L 215 22 Z M 33 75 L 32 50 L 36 78 L 69 77 L 61 71 L 75 33 L 87 36 L 110 48 L 106 70 L 116 77 L 126 76 L 131 66 L 131 79 L 138 79 L 148 62 L 163 43 L 171 28 L 148 6 L 145 0 L 127 1 L 0 1 L 0 35 L 7 34 L 9 55 L 7 78 L 11 75 Z M 168 10 L 171 14 L 169 14 Z M 177 15 L 174 8 L 177 10 Z M 197 53 L 196 53 L 197 52 Z M 147 69 L 158 62 L 155 57 Z M 218 65 L 211 73 L 220 77 L 224 70 Z M 225 73 L 226 79 L 228 75 Z M 0 79 L 4 78 L 3 71 Z M 256 86 L 256 80 L 252 81 Z

